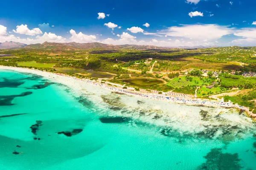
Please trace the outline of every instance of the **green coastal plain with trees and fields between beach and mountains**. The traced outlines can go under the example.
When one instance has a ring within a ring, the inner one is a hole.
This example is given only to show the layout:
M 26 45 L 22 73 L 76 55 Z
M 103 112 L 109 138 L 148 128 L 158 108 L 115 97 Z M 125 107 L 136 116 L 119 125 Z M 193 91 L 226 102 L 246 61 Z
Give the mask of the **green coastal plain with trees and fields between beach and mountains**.
M 175 89 L 174 92 L 195 94 L 198 88 L 198 96 L 209 96 L 232 88 L 256 88 L 255 77 L 245 78 L 241 75 L 246 71 L 256 71 L 255 51 L 255 47 L 237 46 L 192 50 L 67 50 L 38 46 L 31 49 L 0 50 L 0 54 L 12 54 L 11 57 L 0 57 L 0 65 L 64 72 L 79 78 L 106 78 L 137 90 L 143 88 L 165 92 Z M 206 73 L 204 70 L 211 72 L 203 77 Z M 212 71 L 223 73 L 217 78 Z M 236 71 L 236 75 L 231 75 L 231 71 Z M 207 88 L 212 82 L 218 84 Z M 231 99 L 236 101 L 235 97 Z M 245 97 L 246 102 L 242 104 L 247 105 L 249 99 Z

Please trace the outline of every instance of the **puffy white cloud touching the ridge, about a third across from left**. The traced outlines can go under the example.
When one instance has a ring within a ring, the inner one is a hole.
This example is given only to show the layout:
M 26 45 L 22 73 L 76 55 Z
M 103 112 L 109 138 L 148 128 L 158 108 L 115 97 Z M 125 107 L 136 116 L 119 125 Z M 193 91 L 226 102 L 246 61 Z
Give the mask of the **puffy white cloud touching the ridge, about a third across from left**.
M 70 30 L 70 34 L 72 35 L 70 40 L 72 40 L 74 42 L 79 42 L 79 43 L 95 42 L 97 39 L 97 37 L 95 35 L 86 35 L 81 32 L 79 32 L 79 34 L 76 34 L 76 31 L 74 31 L 73 29 Z

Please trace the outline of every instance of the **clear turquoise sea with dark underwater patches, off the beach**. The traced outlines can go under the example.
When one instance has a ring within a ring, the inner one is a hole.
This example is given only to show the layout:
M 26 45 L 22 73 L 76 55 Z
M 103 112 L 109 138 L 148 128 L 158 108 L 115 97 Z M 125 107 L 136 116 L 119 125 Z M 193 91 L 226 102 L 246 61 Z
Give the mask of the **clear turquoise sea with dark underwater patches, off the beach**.
M 202 132 L 184 133 L 173 118 L 116 105 L 127 96 L 91 95 L 0 70 L 0 170 L 256 170 L 256 126 L 241 122 L 243 115 L 239 125 L 226 123 L 238 115 L 227 113 L 204 120 Z

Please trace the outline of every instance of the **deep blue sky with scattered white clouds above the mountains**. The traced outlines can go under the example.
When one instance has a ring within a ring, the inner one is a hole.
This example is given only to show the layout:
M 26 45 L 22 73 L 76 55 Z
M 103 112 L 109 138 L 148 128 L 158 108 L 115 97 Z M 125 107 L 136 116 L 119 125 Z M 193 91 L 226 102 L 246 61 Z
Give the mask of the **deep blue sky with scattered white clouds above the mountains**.
M 255 6 L 255 0 L 3 1 L 0 42 L 256 46 Z

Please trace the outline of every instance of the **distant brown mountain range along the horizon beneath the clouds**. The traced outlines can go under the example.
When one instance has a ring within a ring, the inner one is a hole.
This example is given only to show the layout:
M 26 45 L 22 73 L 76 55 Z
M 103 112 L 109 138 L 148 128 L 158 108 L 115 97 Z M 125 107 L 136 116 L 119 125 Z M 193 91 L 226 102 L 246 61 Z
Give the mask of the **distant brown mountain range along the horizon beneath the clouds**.
M 216 46 L 214 46 L 216 47 Z M 157 49 L 157 50 L 168 50 L 171 48 L 186 48 L 186 49 L 195 49 L 195 48 L 210 48 L 204 46 L 180 46 L 180 47 L 157 47 L 154 45 L 108 45 L 99 42 L 88 42 L 88 43 L 77 43 L 77 42 L 44 42 L 42 44 L 30 44 L 26 45 L 20 42 L 3 42 L 0 43 L 0 49 L 17 49 L 17 48 L 26 48 L 26 49 L 48 49 L 48 50 L 89 50 L 89 49 L 98 49 L 98 50 L 117 50 L 117 49 Z

